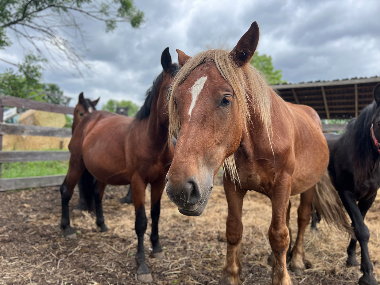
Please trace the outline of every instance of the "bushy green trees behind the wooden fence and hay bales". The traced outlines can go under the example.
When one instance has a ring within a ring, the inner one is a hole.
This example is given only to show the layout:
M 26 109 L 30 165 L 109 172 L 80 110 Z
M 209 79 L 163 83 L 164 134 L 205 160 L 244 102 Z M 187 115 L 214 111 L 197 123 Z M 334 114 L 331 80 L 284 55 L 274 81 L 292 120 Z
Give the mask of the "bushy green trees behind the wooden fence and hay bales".
M 70 98 L 63 96 L 57 84 L 42 82 L 41 61 L 41 58 L 28 54 L 24 62 L 17 65 L 17 71 L 9 68 L 1 73 L 0 94 L 68 105 Z

